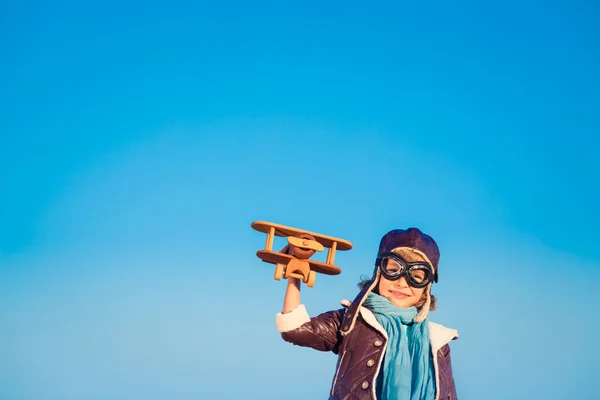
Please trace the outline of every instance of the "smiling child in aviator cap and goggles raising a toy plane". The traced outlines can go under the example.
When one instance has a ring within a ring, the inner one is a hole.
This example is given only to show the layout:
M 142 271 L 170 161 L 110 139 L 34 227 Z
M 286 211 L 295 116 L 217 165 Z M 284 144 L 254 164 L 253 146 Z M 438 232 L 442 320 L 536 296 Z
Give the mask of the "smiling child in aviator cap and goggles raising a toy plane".
M 457 399 L 448 343 L 458 333 L 427 319 L 439 258 L 419 229 L 390 231 L 354 301 L 313 318 L 300 304 L 299 281 L 288 280 L 277 329 L 287 342 L 338 355 L 330 400 Z

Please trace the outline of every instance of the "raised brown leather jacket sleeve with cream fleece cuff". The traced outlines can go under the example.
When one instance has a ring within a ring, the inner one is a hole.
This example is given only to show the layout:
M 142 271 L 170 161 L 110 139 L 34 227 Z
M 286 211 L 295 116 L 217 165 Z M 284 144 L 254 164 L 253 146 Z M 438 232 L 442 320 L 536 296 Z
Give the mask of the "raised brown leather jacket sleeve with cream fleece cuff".
M 286 342 L 337 354 L 341 341 L 339 328 L 344 309 L 328 311 L 310 318 L 304 305 L 276 317 L 277 330 Z

